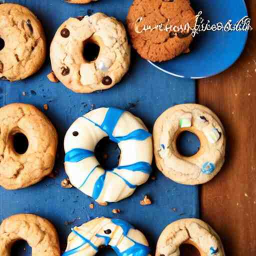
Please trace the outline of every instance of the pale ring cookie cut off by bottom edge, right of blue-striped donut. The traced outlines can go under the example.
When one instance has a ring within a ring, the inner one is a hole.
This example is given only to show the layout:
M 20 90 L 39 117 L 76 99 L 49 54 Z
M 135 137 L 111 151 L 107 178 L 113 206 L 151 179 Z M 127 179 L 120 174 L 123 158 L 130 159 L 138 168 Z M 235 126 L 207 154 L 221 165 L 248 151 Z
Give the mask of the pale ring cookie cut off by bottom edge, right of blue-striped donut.
M 224 256 L 219 236 L 205 222 L 185 218 L 167 225 L 157 241 L 155 256 L 179 256 L 179 246 L 188 243 L 195 246 L 200 256 Z

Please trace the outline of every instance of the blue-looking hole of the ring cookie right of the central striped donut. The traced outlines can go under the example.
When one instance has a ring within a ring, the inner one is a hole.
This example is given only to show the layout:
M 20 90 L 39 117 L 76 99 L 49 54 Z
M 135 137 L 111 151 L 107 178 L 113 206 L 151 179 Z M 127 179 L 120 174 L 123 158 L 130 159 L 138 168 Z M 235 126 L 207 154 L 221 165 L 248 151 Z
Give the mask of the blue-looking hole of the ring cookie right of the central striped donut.
M 176 139 L 176 148 L 179 154 L 189 157 L 200 149 L 199 138 L 191 131 L 182 131 Z

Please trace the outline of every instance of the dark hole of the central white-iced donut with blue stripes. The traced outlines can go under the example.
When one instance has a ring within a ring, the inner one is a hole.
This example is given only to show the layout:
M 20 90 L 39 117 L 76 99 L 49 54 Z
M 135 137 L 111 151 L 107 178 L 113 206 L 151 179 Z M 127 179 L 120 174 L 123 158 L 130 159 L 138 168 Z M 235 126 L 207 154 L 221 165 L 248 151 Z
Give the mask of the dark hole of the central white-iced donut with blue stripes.
M 121 150 L 117 143 L 103 137 L 95 146 L 95 157 L 104 169 L 113 169 L 117 167 Z

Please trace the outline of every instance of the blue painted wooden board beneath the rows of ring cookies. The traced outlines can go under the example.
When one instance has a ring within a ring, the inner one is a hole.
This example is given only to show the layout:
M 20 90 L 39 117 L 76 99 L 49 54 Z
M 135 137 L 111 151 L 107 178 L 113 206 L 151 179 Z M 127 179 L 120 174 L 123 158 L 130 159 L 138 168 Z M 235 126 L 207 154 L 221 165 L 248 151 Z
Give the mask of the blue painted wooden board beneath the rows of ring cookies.
M 5 1 L 6 2 L 6 1 Z M 8 1 L 7 1 L 8 2 Z M 57 27 L 69 16 L 86 15 L 102 11 L 125 22 L 131 0 L 99 0 L 93 4 L 70 5 L 62 0 L 11 0 L 28 6 L 41 20 L 48 45 Z M 91 107 L 116 106 L 129 109 L 141 117 L 152 130 L 156 117 L 166 108 L 177 103 L 195 101 L 195 84 L 190 79 L 180 79 L 165 74 L 132 52 L 131 67 L 123 80 L 113 88 L 100 93 L 77 94 L 61 83 L 51 83 L 46 75 L 51 71 L 47 58 L 42 69 L 32 77 L 14 83 L 0 81 L 0 105 L 24 102 L 36 105 L 51 119 L 59 134 L 59 157 L 56 178 L 43 181 L 25 189 L 6 191 L 0 188 L 0 220 L 20 212 L 29 212 L 48 218 L 56 226 L 61 247 L 73 225 L 79 225 L 96 216 L 116 217 L 113 208 L 120 208 L 117 216 L 129 221 L 144 232 L 154 249 L 161 230 L 178 218 L 198 217 L 198 188 L 177 184 L 159 171 L 156 180 L 139 186 L 135 193 L 118 203 L 99 206 L 79 190 L 61 188 L 66 177 L 63 169 L 63 137 L 69 125 Z M 25 96 L 22 95 L 25 92 Z M 49 109 L 43 110 L 47 103 Z M 131 103 L 135 103 L 135 106 Z M 141 206 L 140 199 L 150 195 L 153 204 Z M 176 208 L 176 211 L 172 210 Z M 72 223 L 66 221 L 73 221 Z M 19 255 L 30 255 L 29 249 Z M 107 255 L 114 255 L 107 252 Z M 16 255 L 16 254 L 13 254 Z

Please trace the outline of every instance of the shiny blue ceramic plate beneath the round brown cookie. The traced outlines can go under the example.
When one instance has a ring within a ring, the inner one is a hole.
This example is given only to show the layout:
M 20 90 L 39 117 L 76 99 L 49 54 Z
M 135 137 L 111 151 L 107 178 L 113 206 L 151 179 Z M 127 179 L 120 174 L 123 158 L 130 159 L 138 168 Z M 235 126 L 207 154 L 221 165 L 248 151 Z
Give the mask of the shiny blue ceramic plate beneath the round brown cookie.
M 192 7 L 201 17 L 211 24 L 233 23 L 247 16 L 244 0 L 191 0 Z M 231 66 L 243 51 L 247 40 L 247 31 L 206 31 L 195 36 L 191 52 L 172 60 L 151 62 L 158 69 L 186 78 L 203 78 L 215 75 Z

